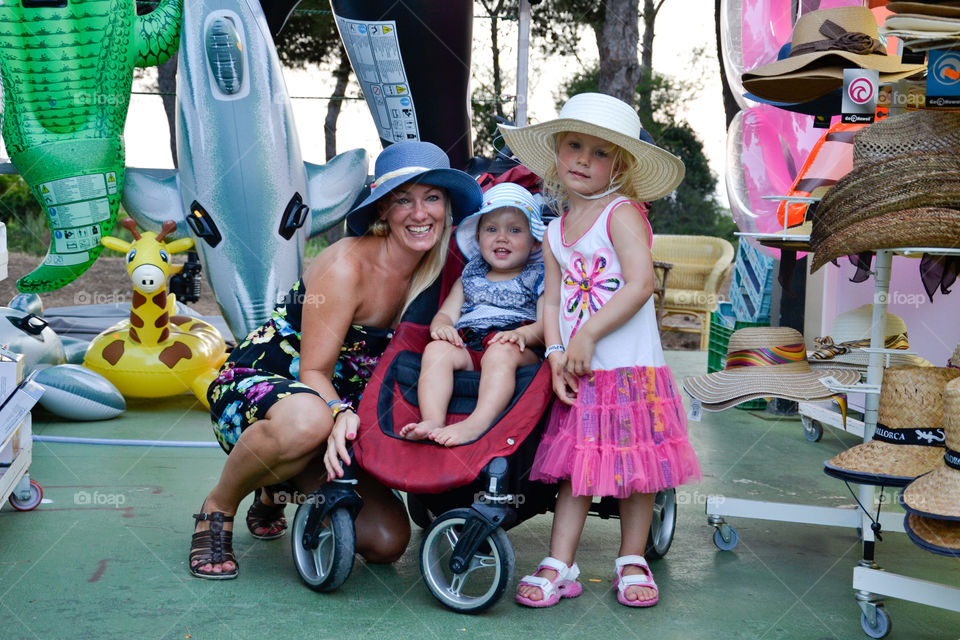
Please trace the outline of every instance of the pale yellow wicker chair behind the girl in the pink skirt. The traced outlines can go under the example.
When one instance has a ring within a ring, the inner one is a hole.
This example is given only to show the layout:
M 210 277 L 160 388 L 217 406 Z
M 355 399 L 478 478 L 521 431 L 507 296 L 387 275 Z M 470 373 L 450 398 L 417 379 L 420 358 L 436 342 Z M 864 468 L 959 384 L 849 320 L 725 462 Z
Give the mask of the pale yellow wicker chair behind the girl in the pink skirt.
M 653 236 L 653 259 L 670 262 L 670 285 L 663 296 L 664 318 L 693 316 L 696 327 L 661 324 L 662 331 L 699 333 L 700 349 L 710 340 L 710 312 L 733 268 L 733 245 L 711 236 Z

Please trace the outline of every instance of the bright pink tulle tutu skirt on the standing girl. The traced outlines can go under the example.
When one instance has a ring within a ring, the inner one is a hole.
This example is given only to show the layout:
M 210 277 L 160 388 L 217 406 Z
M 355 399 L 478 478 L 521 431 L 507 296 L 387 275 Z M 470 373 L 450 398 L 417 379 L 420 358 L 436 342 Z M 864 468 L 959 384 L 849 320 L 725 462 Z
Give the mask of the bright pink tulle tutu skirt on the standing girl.
M 626 498 L 700 479 L 669 367 L 596 370 L 579 382 L 573 406 L 553 403 L 532 480 L 570 480 L 575 496 Z

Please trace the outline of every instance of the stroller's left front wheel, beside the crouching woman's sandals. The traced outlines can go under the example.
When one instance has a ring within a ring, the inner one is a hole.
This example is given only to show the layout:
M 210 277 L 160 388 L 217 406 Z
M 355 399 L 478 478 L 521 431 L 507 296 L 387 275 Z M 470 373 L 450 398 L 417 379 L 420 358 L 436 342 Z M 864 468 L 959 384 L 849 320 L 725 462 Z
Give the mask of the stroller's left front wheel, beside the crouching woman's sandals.
M 357 538 L 350 512 L 338 508 L 330 512 L 326 521 L 319 523 L 317 547 L 307 549 L 303 544 L 307 518 L 311 509 L 320 508 L 321 505 L 313 501 L 307 501 L 297 508 L 290 543 L 293 547 L 293 564 L 297 567 L 300 579 L 314 591 L 324 592 L 338 589 L 350 576 Z

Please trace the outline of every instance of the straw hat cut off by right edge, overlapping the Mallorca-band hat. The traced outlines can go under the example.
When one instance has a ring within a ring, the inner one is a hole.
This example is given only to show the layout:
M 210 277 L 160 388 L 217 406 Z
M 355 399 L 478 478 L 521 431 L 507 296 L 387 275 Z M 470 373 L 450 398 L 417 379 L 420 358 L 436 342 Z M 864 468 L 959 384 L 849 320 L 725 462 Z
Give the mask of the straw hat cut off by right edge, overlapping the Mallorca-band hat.
M 960 380 L 943 391 L 943 435 L 941 464 L 907 485 L 903 508 L 928 518 L 960 520 Z

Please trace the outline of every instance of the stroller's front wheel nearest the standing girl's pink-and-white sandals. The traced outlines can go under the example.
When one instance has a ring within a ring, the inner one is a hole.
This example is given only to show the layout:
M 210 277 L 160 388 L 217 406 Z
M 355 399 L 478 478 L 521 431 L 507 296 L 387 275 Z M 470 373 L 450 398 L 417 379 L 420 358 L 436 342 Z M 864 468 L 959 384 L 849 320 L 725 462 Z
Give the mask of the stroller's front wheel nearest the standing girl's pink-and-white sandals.
M 444 513 L 427 529 L 420 546 L 420 573 L 430 593 L 461 613 L 478 613 L 496 603 L 513 580 L 516 566 L 513 545 L 497 528 L 480 543 L 467 568 L 453 572 L 450 557 L 470 515 L 470 509 Z

